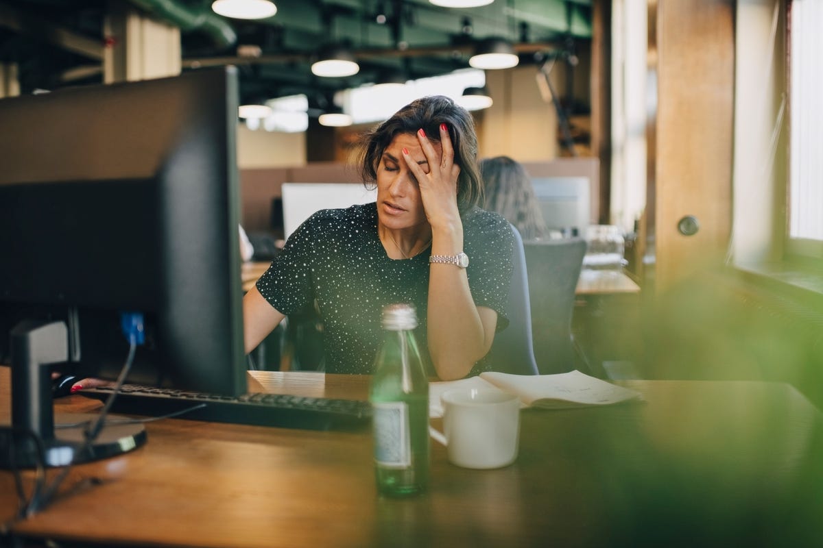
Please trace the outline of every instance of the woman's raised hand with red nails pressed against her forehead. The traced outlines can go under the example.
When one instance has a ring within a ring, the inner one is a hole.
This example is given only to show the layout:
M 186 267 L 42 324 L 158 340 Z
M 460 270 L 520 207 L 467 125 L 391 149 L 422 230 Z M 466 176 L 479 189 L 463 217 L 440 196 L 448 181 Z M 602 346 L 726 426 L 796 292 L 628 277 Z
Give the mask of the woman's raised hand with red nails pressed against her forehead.
M 403 150 L 409 171 L 417 179 L 420 187 L 423 210 L 433 231 L 438 228 L 453 229 L 460 226 L 458 210 L 458 177 L 460 166 L 454 163 L 454 149 L 449 129 L 440 124 L 440 142 L 433 144 L 422 129 L 417 131 L 417 140 L 428 163 L 428 171 Z

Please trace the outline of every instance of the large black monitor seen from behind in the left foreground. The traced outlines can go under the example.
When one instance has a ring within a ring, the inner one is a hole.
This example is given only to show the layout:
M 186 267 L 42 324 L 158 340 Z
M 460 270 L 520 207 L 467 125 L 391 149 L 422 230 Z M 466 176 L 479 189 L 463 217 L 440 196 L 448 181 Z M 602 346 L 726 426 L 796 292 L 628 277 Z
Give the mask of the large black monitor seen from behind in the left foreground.
M 246 391 L 237 97 L 224 67 L 0 100 L 0 363 L 14 361 L 15 426 L 54 438 L 55 368 L 117 377 L 123 313 L 144 319 L 129 381 Z

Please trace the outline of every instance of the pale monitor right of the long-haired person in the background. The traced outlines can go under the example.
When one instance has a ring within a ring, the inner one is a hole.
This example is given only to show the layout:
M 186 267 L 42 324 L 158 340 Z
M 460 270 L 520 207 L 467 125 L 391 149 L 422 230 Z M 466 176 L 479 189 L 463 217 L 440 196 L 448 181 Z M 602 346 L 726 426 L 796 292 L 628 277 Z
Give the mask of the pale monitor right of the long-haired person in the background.
M 588 177 L 532 177 L 546 228 L 581 236 L 591 224 Z

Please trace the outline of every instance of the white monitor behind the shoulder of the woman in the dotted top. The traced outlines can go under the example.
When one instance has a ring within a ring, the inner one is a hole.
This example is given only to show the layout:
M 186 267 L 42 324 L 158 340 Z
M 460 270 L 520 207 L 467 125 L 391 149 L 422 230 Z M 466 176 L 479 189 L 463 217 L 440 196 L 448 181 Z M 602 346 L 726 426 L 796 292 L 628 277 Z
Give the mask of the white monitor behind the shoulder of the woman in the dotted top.
M 377 200 L 376 188 L 366 188 L 360 182 L 284 182 L 281 195 L 286 238 L 316 211 Z

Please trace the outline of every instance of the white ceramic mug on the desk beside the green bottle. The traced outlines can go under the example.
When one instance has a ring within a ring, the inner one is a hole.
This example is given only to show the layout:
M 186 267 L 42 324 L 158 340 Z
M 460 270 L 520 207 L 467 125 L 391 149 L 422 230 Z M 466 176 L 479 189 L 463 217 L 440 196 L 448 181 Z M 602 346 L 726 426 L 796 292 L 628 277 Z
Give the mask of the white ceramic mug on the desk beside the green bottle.
M 448 449 L 449 462 L 464 468 L 500 468 L 514 463 L 520 435 L 520 400 L 498 389 L 444 392 L 443 430 L 431 437 Z

